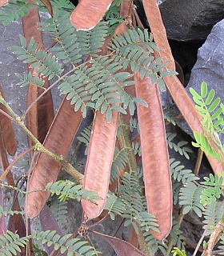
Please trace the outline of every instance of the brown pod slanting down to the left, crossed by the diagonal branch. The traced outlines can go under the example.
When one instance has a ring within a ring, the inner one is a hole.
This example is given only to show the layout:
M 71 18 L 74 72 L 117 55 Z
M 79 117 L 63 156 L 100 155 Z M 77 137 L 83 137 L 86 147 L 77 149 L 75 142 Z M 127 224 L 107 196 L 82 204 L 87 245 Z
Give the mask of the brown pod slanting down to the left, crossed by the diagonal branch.
M 65 97 L 54 122 L 50 126 L 43 146 L 54 154 L 62 155 L 65 158 L 81 122 L 81 110 L 74 112 L 74 106 L 70 105 L 70 101 Z M 27 190 L 45 189 L 47 183 L 56 182 L 60 169 L 60 162 L 56 162 L 48 155 L 40 153 L 34 165 Z M 27 194 L 24 208 L 29 218 L 34 218 L 39 214 L 49 195 L 50 193 L 41 191 Z

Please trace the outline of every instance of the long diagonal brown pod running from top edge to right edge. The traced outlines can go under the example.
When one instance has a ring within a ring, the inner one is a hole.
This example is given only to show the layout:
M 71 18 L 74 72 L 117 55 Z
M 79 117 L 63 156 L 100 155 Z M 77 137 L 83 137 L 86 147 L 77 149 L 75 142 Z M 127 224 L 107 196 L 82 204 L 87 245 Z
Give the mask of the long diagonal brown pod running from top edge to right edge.
M 162 23 L 162 17 L 160 11 L 158 9 L 158 4 L 156 0 L 142 0 L 144 9 L 146 11 L 146 17 L 150 24 L 150 29 L 154 35 L 154 41 L 157 43 L 160 48 L 159 53 L 155 53 L 155 55 L 162 56 L 163 62 L 170 62 L 168 66 L 166 66 L 167 70 L 175 70 L 174 66 L 174 58 L 171 54 L 169 42 L 166 37 L 166 30 Z M 157 57 L 157 56 L 156 56 Z M 165 70 L 165 69 L 163 69 Z M 163 78 L 166 82 L 166 87 L 170 91 L 170 94 L 181 111 L 183 117 L 186 122 L 190 126 L 192 131 L 197 131 L 199 134 L 203 133 L 201 121 L 202 118 L 198 114 L 198 111 L 195 109 L 194 103 L 191 101 L 189 95 L 186 93 L 186 90 L 182 87 L 181 82 L 178 81 L 174 75 L 166 76 Z M 209 139 L 210 145 L 216 149 L 216 146 Z M 215 174 L 220 175 L 220 172 L 224 170 L 224 164 L 218 162 L 214 158 L 210 156 L 206 156 L 214 170 Z M 224 162 L 224 158 L 222 158 L 222 162 Z

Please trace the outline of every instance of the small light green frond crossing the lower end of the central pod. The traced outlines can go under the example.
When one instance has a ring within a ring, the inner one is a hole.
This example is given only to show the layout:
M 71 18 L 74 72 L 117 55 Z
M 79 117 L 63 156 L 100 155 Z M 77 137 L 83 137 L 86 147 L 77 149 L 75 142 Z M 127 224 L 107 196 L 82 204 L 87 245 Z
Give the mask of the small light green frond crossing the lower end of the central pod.
M 77 185 L 75 182 L 68 180 L 59 180 L 58 182 L 48 183 L 46 190 L 49 190 L 51 195 L 58 195 L 60 201 L 66 201 L 67 198 L 72 198 L 80 201 L 82 198 L 95 203 L 94 200 L 100 200 L 93 191 L 82 190 L 82 185 Z

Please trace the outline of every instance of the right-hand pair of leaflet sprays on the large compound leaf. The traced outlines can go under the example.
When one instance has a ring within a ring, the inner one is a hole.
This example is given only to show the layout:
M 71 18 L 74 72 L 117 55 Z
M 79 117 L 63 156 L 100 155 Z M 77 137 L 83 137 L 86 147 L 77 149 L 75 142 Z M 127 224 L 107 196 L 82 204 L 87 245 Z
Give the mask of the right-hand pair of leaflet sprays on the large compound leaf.
M 162 58 L 154 60 L 149 55 L 148 51 L 158 51 L 158 47 L 152 42 L 147 30 L 142 31 L 138 28 L 129 30 L 128 33 L 124 32 L 123 36 L 118 34 L 112 38 L 109 48 L 114 52 L 114 62 L 118 62 L 124 69 L 130 66 L 133 72 L 139 71 L 141 78 L 150 77 L 153 84 L 157 81 L 158 71 L 167 65 L 166 62 L 162 62 Z

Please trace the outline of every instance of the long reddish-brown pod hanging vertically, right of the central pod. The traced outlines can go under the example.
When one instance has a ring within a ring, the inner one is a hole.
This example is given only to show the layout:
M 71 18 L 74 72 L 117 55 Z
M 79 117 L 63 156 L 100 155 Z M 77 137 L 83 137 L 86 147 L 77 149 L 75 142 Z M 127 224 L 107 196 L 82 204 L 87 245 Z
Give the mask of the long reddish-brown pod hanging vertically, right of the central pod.
M 138 105 L 138 124 L 142 146 L 142 167 L 145 183 L 147 209 L 158 221 L 160 233 L 150 230 L 154 238 L 162 240 L 172 226 L 172 185 L 166 131 L 158 85 L 150 78 L 140 79 L 135 74 L 136 96 L 148 107 Z

